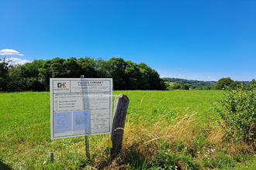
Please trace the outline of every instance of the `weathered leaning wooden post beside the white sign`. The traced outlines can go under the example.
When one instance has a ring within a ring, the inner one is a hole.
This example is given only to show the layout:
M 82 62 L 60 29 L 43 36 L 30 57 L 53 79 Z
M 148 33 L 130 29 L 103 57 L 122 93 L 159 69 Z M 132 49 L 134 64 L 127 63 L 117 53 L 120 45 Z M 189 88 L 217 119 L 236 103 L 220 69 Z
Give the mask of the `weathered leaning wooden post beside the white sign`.
M 125 94 L 119 94 L 115 99 L 114 115 L 112 122 L 112 149 L 111 158 L 115 158 L 122 148 L 123 128 L 126 121 L 126 113 L 129 105 L 129 98 Z

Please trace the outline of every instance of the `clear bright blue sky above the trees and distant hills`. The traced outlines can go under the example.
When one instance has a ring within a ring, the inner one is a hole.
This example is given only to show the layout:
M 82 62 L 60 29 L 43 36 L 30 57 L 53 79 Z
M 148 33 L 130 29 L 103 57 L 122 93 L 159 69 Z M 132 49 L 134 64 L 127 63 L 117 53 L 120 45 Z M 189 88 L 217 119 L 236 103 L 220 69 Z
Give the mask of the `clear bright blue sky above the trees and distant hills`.
M 0 0 L 0 23 L 0 55 L 19 63 L 115 56 L 161 77 L 256 79 L 254 0 Z

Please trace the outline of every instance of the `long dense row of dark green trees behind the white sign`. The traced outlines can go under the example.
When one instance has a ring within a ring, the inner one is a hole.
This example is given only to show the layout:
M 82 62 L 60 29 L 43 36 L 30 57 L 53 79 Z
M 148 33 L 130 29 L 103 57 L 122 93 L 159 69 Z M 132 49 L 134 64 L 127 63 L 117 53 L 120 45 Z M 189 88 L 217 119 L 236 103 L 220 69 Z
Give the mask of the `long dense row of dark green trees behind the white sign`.
M 145 63 L 122 58 L 109 60 L 91 57 L 35 59 L 32 63 L 13 65 L 0 59 L 0 91 L 50 90 L 50 78 L 112 78 L 114 90 L 165 90 L 164 80 Z

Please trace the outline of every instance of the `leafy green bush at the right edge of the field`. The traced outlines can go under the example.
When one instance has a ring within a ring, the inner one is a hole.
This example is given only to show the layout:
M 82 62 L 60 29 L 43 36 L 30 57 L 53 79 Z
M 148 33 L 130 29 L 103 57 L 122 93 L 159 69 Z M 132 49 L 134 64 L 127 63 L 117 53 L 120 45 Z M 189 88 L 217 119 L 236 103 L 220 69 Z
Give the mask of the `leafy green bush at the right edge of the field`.
M 236 90 L 227 87 L 216 110 L 224 121 L 227 136 L 255 145 L 256 90 L 245 90 L 243 84 Z

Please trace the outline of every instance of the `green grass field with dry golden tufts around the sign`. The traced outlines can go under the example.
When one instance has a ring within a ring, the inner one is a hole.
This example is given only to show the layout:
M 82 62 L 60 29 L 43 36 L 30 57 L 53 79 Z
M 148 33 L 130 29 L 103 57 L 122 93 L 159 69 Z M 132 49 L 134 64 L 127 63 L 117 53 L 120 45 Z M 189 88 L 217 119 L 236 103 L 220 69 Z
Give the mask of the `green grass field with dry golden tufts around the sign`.
M 121 155 L 109 134 L 50 140 L 50 93 L 0 93 L 0 169 L 254 169 L 255 152 L 223 136 L 213 104 L 220 90 L 114 91 L 130 98 Z M 114 100 L 113 97 L 113 100 Z M 54 152 L 54 163 L 50 162 Z

